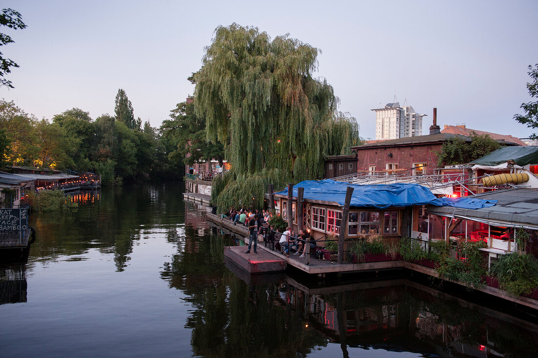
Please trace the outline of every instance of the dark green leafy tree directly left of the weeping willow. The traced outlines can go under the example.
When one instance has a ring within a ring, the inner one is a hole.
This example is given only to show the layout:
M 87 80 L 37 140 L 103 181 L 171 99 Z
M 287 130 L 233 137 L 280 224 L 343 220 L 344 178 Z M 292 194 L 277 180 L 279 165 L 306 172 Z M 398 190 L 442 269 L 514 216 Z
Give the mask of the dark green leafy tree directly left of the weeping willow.
M 222 166 L 224 146 L 207 141 L 206 120 L 196 115 L 192 97 L 178 103 L 170 112 L 172 120 L 163 121 L 161 125 L 162 134 L 175 146 L 169 158 L 176 162 L 184 160 L 188 165 L 216 159 Z

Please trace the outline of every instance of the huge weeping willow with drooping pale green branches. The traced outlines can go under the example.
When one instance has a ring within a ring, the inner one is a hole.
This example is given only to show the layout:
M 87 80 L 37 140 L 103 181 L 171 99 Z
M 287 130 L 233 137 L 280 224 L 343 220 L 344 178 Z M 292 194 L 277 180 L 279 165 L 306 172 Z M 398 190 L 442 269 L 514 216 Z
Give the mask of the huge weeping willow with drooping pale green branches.
M 194 82 L 207 140 L 226 143 L 232 165 L 219 207 L 242 192 L 261 197 L 267 182 L 278 187 L 276 181 L 320 178 L 327 156 L 348 154 L 358 144 L 355 118 L 338 113 L 332 87 L 312 77 L 317 54 L 288 35 L 271 41 L 256 27 L 215 30 Z

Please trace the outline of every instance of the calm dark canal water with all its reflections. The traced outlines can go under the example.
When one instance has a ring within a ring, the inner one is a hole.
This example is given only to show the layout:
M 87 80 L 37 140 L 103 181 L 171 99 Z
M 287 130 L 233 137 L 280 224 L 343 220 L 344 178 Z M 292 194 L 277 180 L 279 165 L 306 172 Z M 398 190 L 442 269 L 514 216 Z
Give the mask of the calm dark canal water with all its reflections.
M 0 355 L 535 356 L 536 320 L 406 277 L 238 277 L 237 244 L 182 200 L 183 184 L 76 196 L 31 215 L 24 265 L 0 266 Z

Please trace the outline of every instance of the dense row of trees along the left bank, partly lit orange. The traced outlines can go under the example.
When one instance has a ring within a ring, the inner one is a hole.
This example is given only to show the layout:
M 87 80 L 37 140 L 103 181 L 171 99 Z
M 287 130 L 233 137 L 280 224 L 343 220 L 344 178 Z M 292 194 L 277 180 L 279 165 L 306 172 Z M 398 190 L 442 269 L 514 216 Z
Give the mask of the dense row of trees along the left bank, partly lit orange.
M 120 89 L 115 116 L 95 120 L 89 113 L 68 109 L 52 122 L 37 120 L 13 101 L 0 100 L 0 152 L 4 165 L 101 174 L 103 185 L 139 179 L 181 178 L 181 158 L 170 156 L 177 148 L 153 128 L 134 119 L 132 104 Z

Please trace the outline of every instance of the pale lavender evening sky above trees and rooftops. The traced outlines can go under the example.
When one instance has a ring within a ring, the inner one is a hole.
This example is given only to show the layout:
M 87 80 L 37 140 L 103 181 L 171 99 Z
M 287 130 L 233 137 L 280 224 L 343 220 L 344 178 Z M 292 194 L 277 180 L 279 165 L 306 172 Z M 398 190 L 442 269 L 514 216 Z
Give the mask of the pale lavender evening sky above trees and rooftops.
M 405 99 L 438 124 L 527 137 L 512 117 L 530 97 L 527 66 L 538 63 L 537 1 L 27 1 L 8 0 L 27 25 L 12 31 L 4 57 L 20 68 L 0 97 L 37 118 L 77 107 L 114 115 L 118 88 L 134 116 L 159 127 L 193 94 L 187 77 L 201 67 L 219 25 L 289 33 L 319 48 L 318 72 L 339 110 L 375 137 L 375 113 Z

